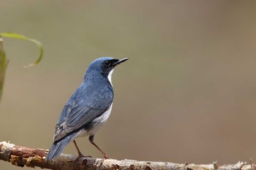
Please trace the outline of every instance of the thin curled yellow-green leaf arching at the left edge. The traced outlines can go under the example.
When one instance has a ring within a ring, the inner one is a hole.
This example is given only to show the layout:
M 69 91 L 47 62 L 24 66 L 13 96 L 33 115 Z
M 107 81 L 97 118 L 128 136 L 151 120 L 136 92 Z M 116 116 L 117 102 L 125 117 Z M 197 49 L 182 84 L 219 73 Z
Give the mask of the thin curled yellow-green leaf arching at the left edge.
M 28 38 L 28 37 L 23 36 L 23 35 L 20 35 L 20 34 L 15 34 L 15 33 L 1 33 L 0 36 L 12 38 L 12 39 L 23 39 L 23 40 L 26 40 L 26 41 L 29 41 L 29 42 L 34 42 L 37 45 L 37 47 L 39 48 L 39 57 L 37 58 L 37 61 L 34 61 L 34 63 L 30 63 L 28 66 L 24 66 L 25 68 L 28 68 L 30 66 L 34 66 L 42 60 L 43 49 L 42 49 L 42 43 L 41 42 L 39 42 L 35 39 Z

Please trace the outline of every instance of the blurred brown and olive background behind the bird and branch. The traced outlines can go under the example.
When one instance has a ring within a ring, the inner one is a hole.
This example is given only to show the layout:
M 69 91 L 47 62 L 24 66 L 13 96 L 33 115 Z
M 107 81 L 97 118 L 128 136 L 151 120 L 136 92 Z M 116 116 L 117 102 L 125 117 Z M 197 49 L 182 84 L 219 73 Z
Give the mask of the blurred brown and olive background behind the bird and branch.
M 128 57 L 112 77 L 110 119 L 94 138 L 110 158 L 255 163 L 256 1 L 0 4 L 0 32 L 37 39 L 45 50 L 38 66 L 23 69 L 36 60 L 36 45 L 4 39 L 0 141 L 49 148 L 89 63 Z M 77 142 L 84 155 L 102 158 L 88 137 Z M 78 154 L 73 144 L 64 153 Z

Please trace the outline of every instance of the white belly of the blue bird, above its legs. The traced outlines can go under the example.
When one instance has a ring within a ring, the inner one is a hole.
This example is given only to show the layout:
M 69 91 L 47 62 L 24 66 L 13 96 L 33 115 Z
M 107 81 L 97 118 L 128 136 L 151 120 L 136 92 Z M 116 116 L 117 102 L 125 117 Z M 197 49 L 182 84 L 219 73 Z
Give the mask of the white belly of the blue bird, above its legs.
M 78 131 L 78 134 L 76 137 L 82 137 L 82 136 L 91 136 L 95 134 L 99 128 L 106 123 L 108 120 L 108 117 L 110 116 L 110 112 L 112 109 L 112 104 L 108 108 L 108 110 L 100 115 L 99 117 L 96 117 L 94 120 L 92 120 L 92 123 L 94 124 L 92 128 L 90 129 L 84 129 L 82 128 L 80 131 Z

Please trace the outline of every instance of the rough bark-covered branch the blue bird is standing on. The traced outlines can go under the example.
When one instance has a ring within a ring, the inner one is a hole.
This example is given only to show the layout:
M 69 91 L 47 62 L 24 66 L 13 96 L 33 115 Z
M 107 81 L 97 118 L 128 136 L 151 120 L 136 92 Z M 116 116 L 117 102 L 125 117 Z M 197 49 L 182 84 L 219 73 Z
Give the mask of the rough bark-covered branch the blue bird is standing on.
M 0 160 L 12 163 L 15 166 L 38 166 L 42 169 L 53 170 L 110 170 L 110 169 L 172 169 L 172 170 L 249 170 L 255 169 L 255 164 L 238 162 L 233 165 L 217 166 L 217 163 L 195 165 L 190 163 L 168 163 L 154 161 L 114 160 L 100 158 L 80 158 L 61 154 L 55 161 L 45 161 L 48 150 L 22 147 L 8 142 L 0 142 Z

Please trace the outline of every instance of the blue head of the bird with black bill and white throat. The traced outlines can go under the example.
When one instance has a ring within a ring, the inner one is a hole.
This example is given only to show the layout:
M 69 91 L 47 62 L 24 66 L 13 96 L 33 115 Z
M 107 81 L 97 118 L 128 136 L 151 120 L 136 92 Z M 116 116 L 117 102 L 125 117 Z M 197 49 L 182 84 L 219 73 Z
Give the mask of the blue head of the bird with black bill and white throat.
M 96 60 L 92 61 L 89 68 L 86 71 L 86 74 L 90 76 L 97 76 L 102 75 L 111 82 L 111 75 L 113 73 L 113 69 L 119 64 L 127 61 L 128 58 L 123 59 L 115 59 L 110 57 L 102 57 L 97 58 Z

